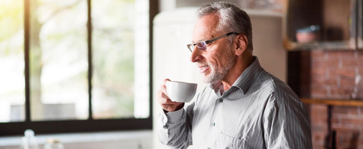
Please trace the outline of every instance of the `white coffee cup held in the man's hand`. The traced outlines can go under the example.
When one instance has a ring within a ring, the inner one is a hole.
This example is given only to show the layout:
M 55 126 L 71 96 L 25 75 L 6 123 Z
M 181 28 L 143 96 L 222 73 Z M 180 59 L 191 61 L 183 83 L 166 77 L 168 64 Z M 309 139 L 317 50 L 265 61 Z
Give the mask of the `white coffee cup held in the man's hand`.
M 171 101 L 190 102 L 197 90 L 195 83 L 166 81 L 166 91 Z

